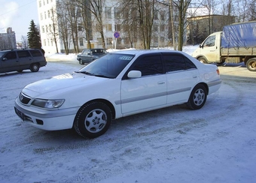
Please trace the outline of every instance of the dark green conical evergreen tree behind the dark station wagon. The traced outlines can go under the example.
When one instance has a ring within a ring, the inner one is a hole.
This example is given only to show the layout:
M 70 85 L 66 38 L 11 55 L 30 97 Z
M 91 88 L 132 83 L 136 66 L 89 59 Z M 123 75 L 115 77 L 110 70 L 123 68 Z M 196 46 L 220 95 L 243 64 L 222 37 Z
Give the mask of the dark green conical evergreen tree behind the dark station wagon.
M 28 36 L 29 48 L 41 49 L 41 37 L 37 26 L 35 26 L 34 20 L 31 20 Z

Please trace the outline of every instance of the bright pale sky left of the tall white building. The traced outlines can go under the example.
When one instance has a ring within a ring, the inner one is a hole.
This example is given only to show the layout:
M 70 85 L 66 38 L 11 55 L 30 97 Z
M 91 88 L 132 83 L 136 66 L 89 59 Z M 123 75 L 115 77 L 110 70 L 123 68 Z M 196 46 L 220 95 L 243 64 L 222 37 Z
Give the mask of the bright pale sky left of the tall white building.
M 0 0 L 0 5 L 0 31 L 11 27 L 17 41 L 26 36 L 31 20 L 38 26 L 37 0 Z

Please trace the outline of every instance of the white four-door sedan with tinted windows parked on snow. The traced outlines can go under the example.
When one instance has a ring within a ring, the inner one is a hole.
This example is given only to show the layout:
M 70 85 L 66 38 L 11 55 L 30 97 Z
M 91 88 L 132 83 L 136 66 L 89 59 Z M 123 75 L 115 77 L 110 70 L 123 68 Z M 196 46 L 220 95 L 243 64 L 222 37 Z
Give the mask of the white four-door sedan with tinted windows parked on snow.
M 29 84 L 14 109 L 34 127 L 73 127 L 79 135 L 95 138 L 115 118 L 176 104 L 199 110 L 220 86 L 216 65 L 203 65 L 184 52 L 132 49 Z

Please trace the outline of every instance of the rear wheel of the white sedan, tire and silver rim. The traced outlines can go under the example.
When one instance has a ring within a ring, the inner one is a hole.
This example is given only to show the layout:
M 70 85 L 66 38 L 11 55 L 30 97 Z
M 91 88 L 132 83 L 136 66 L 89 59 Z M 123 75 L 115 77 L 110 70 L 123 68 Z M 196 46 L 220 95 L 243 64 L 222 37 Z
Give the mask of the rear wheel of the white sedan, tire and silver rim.
M 191 110 L 199 110 L 206 103 L 207 92 L 206 87 L 199 84 L 192 90 L 190 97 L 187 101 L 187 107 Z

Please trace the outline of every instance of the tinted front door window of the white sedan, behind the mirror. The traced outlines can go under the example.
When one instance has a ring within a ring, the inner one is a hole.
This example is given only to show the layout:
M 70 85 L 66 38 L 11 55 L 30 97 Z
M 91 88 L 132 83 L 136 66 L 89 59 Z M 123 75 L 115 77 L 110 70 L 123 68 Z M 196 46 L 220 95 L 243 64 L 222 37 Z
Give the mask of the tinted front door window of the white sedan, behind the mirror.
M 163 74 L 163 65 L 160 55 L 148 55 L 139 58 L 133 66 L 133 70 L 141 71 L 142 77 L 154 74 Z

